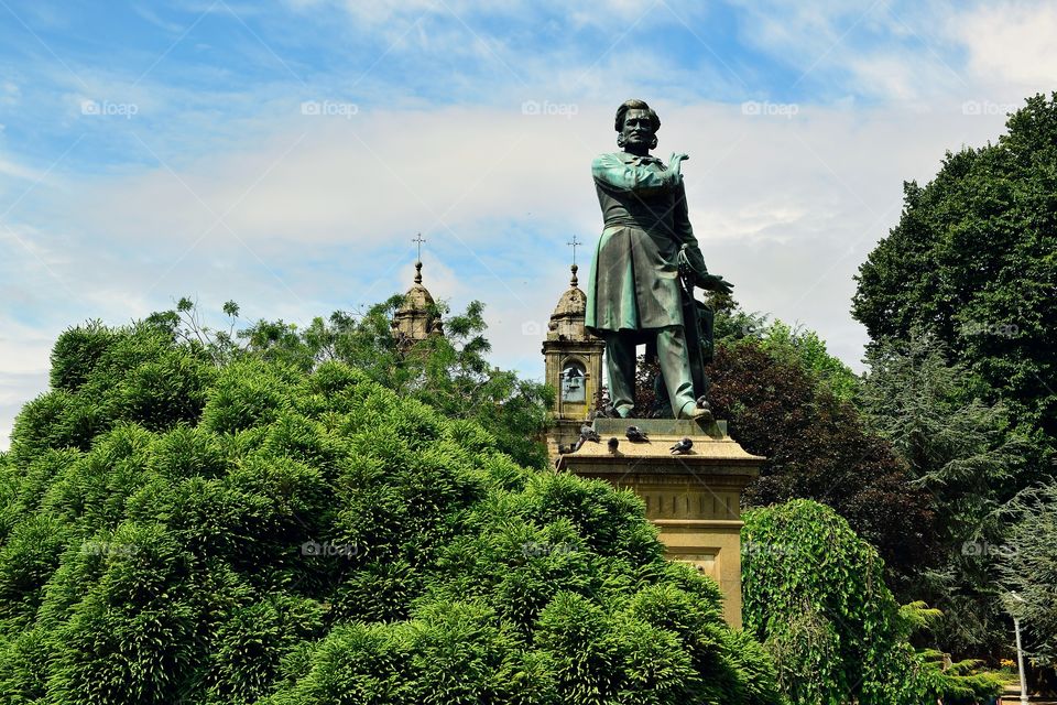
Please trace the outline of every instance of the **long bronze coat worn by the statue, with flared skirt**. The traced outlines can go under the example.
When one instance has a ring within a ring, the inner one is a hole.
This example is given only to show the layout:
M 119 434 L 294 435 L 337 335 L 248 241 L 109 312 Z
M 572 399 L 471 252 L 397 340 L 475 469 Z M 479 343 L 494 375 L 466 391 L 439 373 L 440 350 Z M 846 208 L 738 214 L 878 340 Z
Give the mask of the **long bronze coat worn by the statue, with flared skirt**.
M 586 326 L 649 332 L 683 325 L 677 256 L 706 274 L 678 174 L 653 156 L 601 154 L 591 164 L 603 230 L 587 281 Z

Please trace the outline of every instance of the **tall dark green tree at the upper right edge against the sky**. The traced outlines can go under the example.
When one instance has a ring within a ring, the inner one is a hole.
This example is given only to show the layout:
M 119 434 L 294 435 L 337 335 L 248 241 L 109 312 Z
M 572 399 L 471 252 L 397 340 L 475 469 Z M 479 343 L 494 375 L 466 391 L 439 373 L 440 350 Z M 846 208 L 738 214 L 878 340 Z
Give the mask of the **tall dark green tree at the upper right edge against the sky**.
M 947 153 L 860 267 L 852 313 L 874 341 L 916 328 L 1002 400 L 1012 422 L 1057 438 L 1057 94 L 1028 98 L 994 144 Z M 1050 468 L 1050 471 L 1051 468 Z

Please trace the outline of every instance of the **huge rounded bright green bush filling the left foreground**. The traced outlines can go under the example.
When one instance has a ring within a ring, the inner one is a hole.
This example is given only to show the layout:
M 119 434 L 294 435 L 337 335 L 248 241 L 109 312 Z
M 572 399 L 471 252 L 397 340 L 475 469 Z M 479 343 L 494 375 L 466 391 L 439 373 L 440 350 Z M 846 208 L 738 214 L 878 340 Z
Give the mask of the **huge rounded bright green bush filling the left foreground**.
M 15 423 L 0 701 L 781 702 L 633 495 L 282 326 L 228 355 L 176 324 L 64 334 Z

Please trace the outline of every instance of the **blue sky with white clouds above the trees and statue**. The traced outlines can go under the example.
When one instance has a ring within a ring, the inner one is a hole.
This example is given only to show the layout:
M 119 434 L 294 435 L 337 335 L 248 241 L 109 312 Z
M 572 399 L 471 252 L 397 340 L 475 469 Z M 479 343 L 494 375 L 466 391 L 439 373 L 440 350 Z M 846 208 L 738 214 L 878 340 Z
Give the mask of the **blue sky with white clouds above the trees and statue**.
M 66 328 L 189 296 L 304 324 L 424 283 L 493 361 L 600 231 L 626 98 L 709 270 L 862 370 L 854 274 L 903 183 L 1057 88 L 1057 3 L 0 0 L 0 449 Z

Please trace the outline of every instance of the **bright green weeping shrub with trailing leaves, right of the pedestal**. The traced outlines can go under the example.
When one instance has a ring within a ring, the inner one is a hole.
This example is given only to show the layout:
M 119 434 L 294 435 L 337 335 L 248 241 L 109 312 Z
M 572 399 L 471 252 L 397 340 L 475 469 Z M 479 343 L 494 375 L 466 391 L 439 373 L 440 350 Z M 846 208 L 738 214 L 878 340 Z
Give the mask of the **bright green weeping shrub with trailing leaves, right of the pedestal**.
M 901 609 L 876 551 L 808 500 L 744 514 L 745 630 L 774 657 L 797 705 L 976 703 L 1001 685 L 972 662 L 944 671 L 908 642 L 935 610 Z

